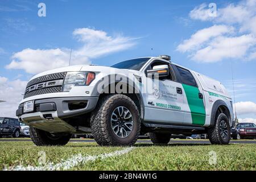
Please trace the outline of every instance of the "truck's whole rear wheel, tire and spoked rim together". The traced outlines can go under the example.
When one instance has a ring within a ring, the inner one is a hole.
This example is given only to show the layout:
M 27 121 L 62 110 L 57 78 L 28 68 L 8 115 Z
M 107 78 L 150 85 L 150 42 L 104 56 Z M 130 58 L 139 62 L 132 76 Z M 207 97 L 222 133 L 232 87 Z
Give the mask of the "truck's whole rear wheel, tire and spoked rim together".
M 212 144 L 229 144 L 229 119 L 224 113 L 218 115 L 214 126 L 208 130 L 208 136 Z

